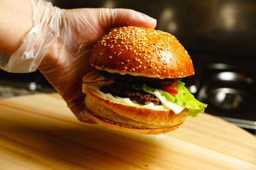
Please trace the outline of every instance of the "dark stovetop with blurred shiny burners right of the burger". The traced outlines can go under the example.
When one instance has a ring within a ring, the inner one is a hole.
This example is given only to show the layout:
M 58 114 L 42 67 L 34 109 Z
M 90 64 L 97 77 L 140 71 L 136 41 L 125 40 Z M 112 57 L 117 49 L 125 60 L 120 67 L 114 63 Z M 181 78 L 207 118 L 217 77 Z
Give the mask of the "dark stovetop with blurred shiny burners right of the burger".
M 208 104 L 205 112 L 256 134 L 256 61 L 235 56 L 191 56 L 196 74 L 184 81 L 199 101 Z

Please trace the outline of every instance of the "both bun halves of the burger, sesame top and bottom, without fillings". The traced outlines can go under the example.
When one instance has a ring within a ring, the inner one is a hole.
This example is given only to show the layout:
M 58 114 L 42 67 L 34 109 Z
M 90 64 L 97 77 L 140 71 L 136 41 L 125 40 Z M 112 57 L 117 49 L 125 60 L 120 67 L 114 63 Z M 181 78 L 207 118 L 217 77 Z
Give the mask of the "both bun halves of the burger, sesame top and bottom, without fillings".
M 98 70 L 110 73 L 158 79 L 181 78 L 195 73 L 188 52 L 175 36 L 139 27 L 122 27 L 105 35 L 94 46 L 90 63 Z M 177 129 L 185 120 L 189 111 L 187 108 L 175 114 L 171 109 L 150 108 L 105 98 L 107 96 L 94 87 L 109 85 L 111 81 L 99 81 L 98 73 L 94 71 L 85 75 L 82 86 L 86 94 L 86 110 L 97 123 L 115 130 L 160 134 Z

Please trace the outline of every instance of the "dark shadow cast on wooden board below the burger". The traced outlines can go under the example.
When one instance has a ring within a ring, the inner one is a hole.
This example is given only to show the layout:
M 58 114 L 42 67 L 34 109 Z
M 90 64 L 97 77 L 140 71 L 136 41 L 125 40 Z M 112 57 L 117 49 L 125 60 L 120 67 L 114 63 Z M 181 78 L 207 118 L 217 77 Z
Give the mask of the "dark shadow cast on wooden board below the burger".
M 26 155 L 26 159 L 36 164 L 68 164 L 93 169 L 147 168 L 165 157 L 161 154 L 161 142 L 168 140 L 165 135 L 139 135 L 101 125 L 53 119 L 40 121 L 30 116 L 0 118 L 0 136 L 4 142 L 17 147 L 18 154 Z

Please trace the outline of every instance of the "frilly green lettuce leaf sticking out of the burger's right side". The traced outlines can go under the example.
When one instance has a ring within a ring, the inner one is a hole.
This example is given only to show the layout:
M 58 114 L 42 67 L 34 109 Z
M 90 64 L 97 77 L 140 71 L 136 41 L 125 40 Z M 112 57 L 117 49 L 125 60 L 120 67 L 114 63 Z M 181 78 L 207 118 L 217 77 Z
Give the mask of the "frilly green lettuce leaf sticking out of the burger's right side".
M 189 109 L 187 116 L 196 117 L 198 113 L 203 113 L 207 104 L 197 101 L 193 94 L 191 94 L 188 89 L 185 87 L 185 83 L 177 81 L 178 94 L 168 93 L 166 91 L 150 87 L 146 84 L 144 85 L 132 85 L 132 87 L 139 87 L 135 89 L 142 89 L 145 92 L 153 93 L 158 91 L 162 96 L 164 96 L 170 102 L 173 102 L 182 107 Z

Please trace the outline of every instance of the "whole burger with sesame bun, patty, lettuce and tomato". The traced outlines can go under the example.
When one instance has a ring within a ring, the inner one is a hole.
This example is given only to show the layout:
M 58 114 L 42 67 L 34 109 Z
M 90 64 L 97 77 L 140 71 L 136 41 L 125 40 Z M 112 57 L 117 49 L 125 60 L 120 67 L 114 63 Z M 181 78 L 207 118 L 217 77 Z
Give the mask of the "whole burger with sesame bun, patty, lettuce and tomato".
M 181 82 L 195 72 L 188 52 L 172 34 L 117 28 L 94 46 L 90 63 L 96 69 L 82 80 L 85 108 L 91 119 L 108 128 L 166 133 L 207 106 Z

